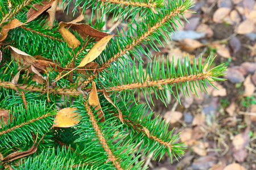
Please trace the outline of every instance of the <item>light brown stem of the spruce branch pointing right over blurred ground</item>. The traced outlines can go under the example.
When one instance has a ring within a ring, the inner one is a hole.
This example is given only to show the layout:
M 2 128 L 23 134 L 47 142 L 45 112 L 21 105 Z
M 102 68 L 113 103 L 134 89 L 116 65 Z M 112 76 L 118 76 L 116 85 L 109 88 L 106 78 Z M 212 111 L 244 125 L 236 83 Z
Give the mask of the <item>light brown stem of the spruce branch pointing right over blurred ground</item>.
M 197 75 L 188 75 L 188 76 L 181 76 L 179 78 L 171 78 L 171 79 L 163 79 L 159 81 L 146 81 L 144 83 L 133 83 L 133 84 L 125 84 L 123 86 L 115 86 L 115 87 L 109 87 L 110 90 L 113 91 L 122 91 L 122 90 L 129 90 L 134 88 L 145 88 L 145 87 L 158 87 L 162 88 L 163 84 L 177 84 L 181 82 L 191 82 L 193 80 L 197 79 L 208 79 L 210 80 L 210 72 L 207 73 L 200 73 Z

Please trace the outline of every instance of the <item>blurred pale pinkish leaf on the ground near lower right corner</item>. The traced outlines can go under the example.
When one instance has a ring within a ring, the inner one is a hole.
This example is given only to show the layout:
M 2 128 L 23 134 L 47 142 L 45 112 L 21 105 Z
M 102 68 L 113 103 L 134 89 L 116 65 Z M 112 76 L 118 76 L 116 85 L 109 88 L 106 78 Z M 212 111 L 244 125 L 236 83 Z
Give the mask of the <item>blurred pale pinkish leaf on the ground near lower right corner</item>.
M 245 131 L 243 131 L 240 134 L 237 134 L 232 141 L 233 156 L 234 159 L 236 159 L 238 162 L 243 162 L 247 156 L 247 150 L 245 147 L 249 144 L 249 132 L 250 126 L 247 126 Z

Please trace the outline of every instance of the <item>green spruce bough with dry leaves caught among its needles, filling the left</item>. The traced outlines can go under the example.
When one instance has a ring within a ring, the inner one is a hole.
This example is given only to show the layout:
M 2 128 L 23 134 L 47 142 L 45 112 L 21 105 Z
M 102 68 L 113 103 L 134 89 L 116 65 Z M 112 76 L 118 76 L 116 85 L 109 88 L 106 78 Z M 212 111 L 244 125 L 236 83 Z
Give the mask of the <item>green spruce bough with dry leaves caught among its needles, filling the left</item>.
M 54 20 L 57 3 L 0 2 L 0 168 L 146 169 L 141 155 L 181 157 L 185 145 L 152 117 L 151 95 L 166 104 L 168 92 L 180 100 L 180 92 L 207 91 L 225 67 L 211 57 L 168 62 L 148 48 L 159 50 L 192 1 L 59 2 L 80 13 L 70 23 Z M 86 8 L 94 25 L 81 23 Z M 104 18 L 127 31 L 100 31 Z

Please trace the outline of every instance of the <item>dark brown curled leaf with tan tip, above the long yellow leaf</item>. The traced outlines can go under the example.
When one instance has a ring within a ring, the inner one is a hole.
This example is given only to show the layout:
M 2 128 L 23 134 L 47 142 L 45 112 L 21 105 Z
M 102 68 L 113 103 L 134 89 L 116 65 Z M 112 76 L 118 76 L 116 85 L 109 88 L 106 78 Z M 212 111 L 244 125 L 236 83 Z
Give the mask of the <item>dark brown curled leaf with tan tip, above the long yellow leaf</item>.
M 74 31 L 77 31 L 83 39 L 89 37 L 95 38 L 95 41 L 100 41 L 102 38 L 108 36 L 108 33 L 98 31 L 97 29 L 90 27 L 90 25 L 77 24 L 77 22 L 80 22 L 82 19 L 84 19 L 84 15 L 80 15 L 78 18 L 68 23 L 60 22 L 59 25 L 60 27 L 72 28 Z

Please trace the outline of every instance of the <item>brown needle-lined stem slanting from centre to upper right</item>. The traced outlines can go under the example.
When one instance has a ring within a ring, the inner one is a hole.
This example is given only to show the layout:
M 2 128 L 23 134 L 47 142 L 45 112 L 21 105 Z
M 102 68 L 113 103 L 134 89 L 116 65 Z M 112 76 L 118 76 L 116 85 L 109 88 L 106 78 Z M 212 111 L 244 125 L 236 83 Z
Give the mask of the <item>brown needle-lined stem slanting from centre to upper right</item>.
M 121 50 L 118 54 L 115 54 L 112 58 L 109 59 L 108 62 L 105 63 L 105 65 L 102 65 L 100 69 L 104 70 L 106 67 L 110 65 L 113 61 L 117 60 L 119 57 L 123 56 L 123 54 L 127 53 L 127 51 L 131 50 L 134 48 L 134 46 L 138 45 L 140 42 L 142 42 L 144 39 L 146 39 L 152 32 L 155 31 L 155 29 L 158 29 L 163 23 L 165 23 L 168 19 L 171 19 L 172 16 L 178 14 L 180 11 L 183 11 L 183 7 L 178 7 L 173 11 L 171 14 L 167 14 L 159 23 L 156 23 L 154 26 L 148 28 L 148 31 L 144 33 L 143 36 L 139 37 L 139 39 L 134 39 L 131 44 L 126 45 L 126 48 Z M 100 70 L 100 71 L 102 71 Z M 98 73 L 100 73 L 98 71 Z M 84 81 L 84 84 L 88 84 L 92 79 L 94 78 L 95 75 L 91 75 L 87 80 Z M 82 87 L 84 88 L 84 86 Z

